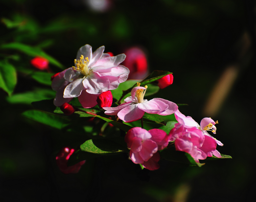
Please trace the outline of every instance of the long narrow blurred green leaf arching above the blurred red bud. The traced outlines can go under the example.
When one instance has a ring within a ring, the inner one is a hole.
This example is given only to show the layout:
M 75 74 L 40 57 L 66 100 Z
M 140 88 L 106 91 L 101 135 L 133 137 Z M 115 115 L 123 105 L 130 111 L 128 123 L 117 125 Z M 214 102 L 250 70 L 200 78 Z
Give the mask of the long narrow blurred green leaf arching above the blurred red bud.
M 7 43 L 3 44 L 0 46 L 0 49 L 11 49 L 11 50 L 17 50 L 20 52 L 23 52 L 27 55 L 30 55 L 32 57 L 40 56 L 45 59 L 47 59 L 51 64 L 59 67 L 60 69 L 63 69 L 63 65 L 59 63 L 56 59 L 45 53 L 43 50 L 41 50 L 38 47 L 32 47 L 23 43 L 19 42 L 12 42 L 12 43 Z

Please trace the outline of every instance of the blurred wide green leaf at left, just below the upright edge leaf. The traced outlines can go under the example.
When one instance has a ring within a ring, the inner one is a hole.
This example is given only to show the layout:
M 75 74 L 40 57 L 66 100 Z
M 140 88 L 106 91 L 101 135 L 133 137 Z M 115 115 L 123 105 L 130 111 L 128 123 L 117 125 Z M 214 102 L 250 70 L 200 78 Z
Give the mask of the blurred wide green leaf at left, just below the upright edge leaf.
M 56 92 L 51 89 L 37 88 L 34 91 L 27 91 L 24 93 L 15 94 L 11 97 L 7 97 L 6 100 L 12 104 L 30 105 L 31 102 L 54 98 L 55 94 Z

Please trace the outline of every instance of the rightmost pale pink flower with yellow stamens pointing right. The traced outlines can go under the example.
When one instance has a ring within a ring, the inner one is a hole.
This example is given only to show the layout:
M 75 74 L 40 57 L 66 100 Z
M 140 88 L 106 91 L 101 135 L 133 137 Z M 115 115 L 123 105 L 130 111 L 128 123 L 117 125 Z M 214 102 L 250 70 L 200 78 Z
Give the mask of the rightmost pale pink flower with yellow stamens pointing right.
M 187 128 L 198 128 L 200 129 L 204 135 L 209 136 L 213 138 L 218 145 L 223 146 L 223 144 L 217 140 L 216 138 L 212 137 L 207 131 L 211 131 L 212 133 L 216 134 L 216 126 L 215 124 L 218 124 L 218 121 L 214 121 L 211 118 L 203 118 L 199 124 L 190 116 L 185 116 L 182 113 L 180 113 L 179 110 L 175 112 L 175 118 L 179 122 L 179 124 L 184 124 L 185 130 Z M 221 158 L 220 153 L 215 150 L 214 152 L 209 153 L 210 156 L 214 154 L 216 157 Z

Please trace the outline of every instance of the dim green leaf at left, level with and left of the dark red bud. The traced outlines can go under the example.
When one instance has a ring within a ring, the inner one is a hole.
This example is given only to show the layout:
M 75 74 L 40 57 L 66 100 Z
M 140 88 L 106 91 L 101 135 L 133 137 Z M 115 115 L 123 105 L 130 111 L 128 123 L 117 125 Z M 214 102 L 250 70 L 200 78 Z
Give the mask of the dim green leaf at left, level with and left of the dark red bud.
M 60 117 L 58 115 L 49 114 L 47 112 L 38 110 L 24 111 L 22 115 L 41 124 L 45 124 L 57 129 L 63 128 L 69 122 L 69 119 L 66 117 Z

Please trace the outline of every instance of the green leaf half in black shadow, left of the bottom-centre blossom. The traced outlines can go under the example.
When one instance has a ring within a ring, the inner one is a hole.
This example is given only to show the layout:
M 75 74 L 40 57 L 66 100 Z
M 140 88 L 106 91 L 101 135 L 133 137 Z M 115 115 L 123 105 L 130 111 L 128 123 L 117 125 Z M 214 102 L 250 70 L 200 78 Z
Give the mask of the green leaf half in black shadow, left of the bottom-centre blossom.
M 80 145 L 82 151 L 95 153 L 95 154 L 116 154 L 120 152 L 127 151 L 127 148 L 123 147 L 121 144 L 113 142 L 108 139 L 94 139 L 87 140 Z

